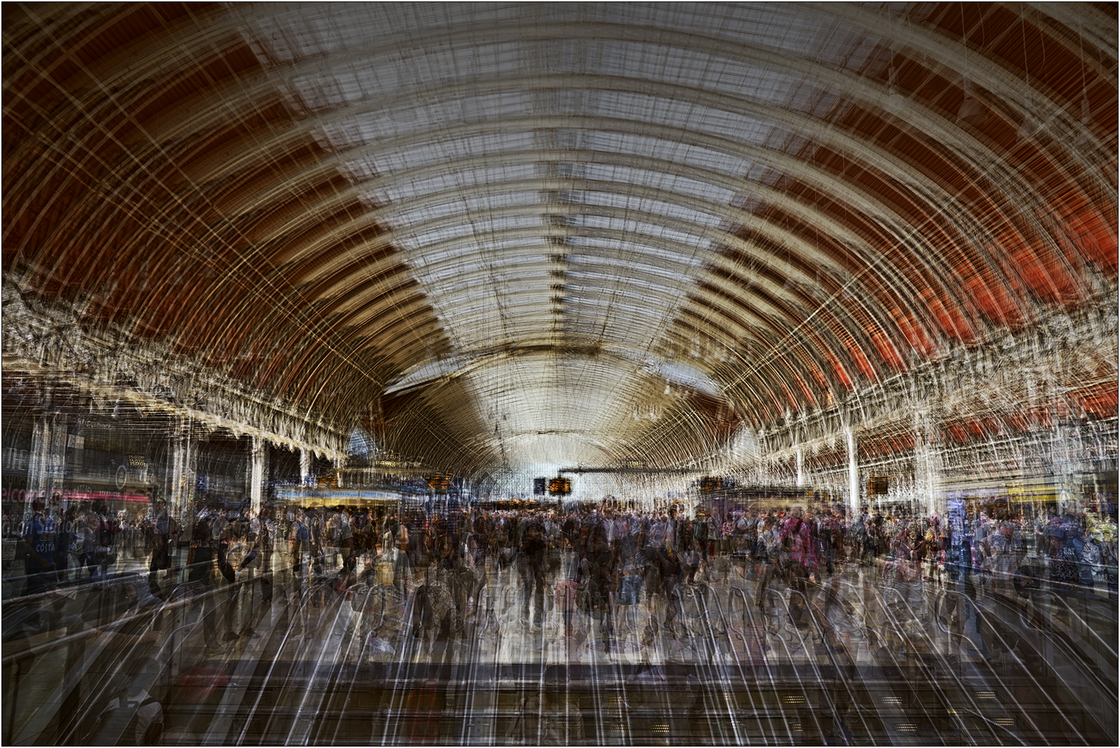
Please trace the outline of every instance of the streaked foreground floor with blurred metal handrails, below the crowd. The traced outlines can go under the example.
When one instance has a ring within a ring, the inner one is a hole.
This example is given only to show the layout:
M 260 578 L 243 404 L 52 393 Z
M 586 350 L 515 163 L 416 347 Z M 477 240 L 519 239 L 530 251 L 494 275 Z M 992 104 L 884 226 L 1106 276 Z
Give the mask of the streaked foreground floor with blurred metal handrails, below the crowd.
M 8 599 L 3 742 L 136 744 L 149 713 L 165 745 L 1117 742 L 1116 602 L 1092 592 L 973 601 L 848 564 L 804 606 L 717 559 L 596 605 L 562 560 L 528 598 L 516 564 L 374 561 L 348 586 L 332 559 L 220 585 L 136 561 Z

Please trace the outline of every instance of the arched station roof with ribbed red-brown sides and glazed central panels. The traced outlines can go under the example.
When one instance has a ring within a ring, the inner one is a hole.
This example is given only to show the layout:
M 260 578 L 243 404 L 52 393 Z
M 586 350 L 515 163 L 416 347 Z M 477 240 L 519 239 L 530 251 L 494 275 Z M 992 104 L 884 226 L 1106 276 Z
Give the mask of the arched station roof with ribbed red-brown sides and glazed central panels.
M 9 2 L 3 269 L 431 465 L 680 465 L 1114 293 L 1117 31 Z

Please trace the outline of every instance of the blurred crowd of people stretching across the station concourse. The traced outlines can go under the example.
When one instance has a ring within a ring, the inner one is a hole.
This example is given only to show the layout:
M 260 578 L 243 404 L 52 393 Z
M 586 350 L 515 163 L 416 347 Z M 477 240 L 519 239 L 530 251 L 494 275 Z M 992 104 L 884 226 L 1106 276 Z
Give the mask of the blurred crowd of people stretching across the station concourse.
M 664 600 L 660 626 L 673 630 L 675 591 L 698 580 L 736 583 L 763 610 L 780 595 L 790 623 L 806 626 L 809 608 L 827 615 L 838 605 L 836 580 L 853 567 L 870 569 L 877 583 L 897 589 L 921 615 L 934 613 L 932 590 L 958 590 L 961 627 L 976 626 L 970 601 L 978 593 L 1026 595 L 1048 582 L 1058 596 L 1117 596 L 1114 522 L 1090 522 L 1072 507 L 1025 522 L 1007 513 L 849 516 L 823 507 L 688 516 L 679 506 L 417 509 L 398 516 L 392 509 L 311 505 L 273 516 L 271 509 L 258 515 L 204 501 L 184 533 L 161 501 L 134 526 L 122 527 L 104 505 L 82 502 L 63 509 L 38 499 L 24 532 L 26 592 L 101 579 L 118 557 L 131 555 L 146 558 L 159 579 L 190 585 L 256 574 L 265 600 L 272 599 L 278 571 L 297 587 L 380 583 L 402 597 L 420 590 L 446 599 L 427 600 L 418 610 L 435 606 L 461 619 L 477 613 L 483 590 L 504 574 L 521 592 L 526 625 L 540 626 L 545 611 L 558 608 L 570 630 L 573 611 L 582 609 L 599 616 L 608 634 L 622 607 L 654 597 Z M 936 613 L 950 617 L 953 609 Z M 214 627 L 215 641 L 252 635 L 252 621 L 242 618 L 240 632 Z

